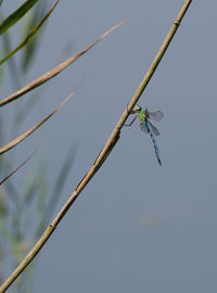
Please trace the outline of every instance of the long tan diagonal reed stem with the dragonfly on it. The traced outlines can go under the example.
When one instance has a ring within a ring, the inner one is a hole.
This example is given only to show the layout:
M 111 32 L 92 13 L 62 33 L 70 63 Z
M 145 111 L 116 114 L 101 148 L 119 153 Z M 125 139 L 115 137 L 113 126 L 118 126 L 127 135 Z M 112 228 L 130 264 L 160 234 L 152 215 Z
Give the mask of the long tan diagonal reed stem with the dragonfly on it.
M 153 76 L 158 63 L 161 62 L 164 53 L 166 52 L 167 47 L 169 46 L 174 35 L 176 34 L 182 17 L 184 16 L 187 10 L 189 9 L 189 5 L 191 4 L 192 0 L 187 0 L 176 18 L 175 23 L 173 24 L 166 39 L 164 40 L 162 47 L 159 48 L 158 53 L 156 54 L 156 58 L 154 59 L 153 63 L 151 64 L 148 73 L 145 74 L 143 80 L 141 81 L 139 88 L 137 89 L 135 95 L 132 97 L 130 103 L 128 104 L 128 107 L 123 113 L 122 117 L 119 118 L 115 129 L 113 130 L 112 135 L 110 136 L 107 142 L 105 143 L 104 148 L 100 152 L 99 156 L 97 157 L 93 165 L 90 167 L 88 173 L 85 175 L 85 177 L 81 179 L 73 194 L 69 196 L 67 202 L 64 204 L 62 209 L 59 212 L 54 220 L 48 226 L 41 238 L 38 240 L 38 242 L 35 244 L 35 246 L 31 249 L 31 251 L 27 254 L 27 256 L 23 259 L 23 262 L 17 266 L 17 268 L 11 273 L 11 276 L 8 278 L 8 280 L 2 284 L 0 288 L 0 293 L 5 292 L 5 290 L 14 282 L 14 280 L 22 273 L 22 271 L 27 267 L 27 265 L 34 259 L 34 257 L 39 253 L 39 251 L 42 249 L 42 246 L 46 244 L 48 239 L 51 237 L 53 231 L 55 230 L 56 226 L 61 221 L 61 219 L 64 217 L 64 215 L 67 213 L 68 208 L 72 206 L 74 201 L 77 199 L 79 193 L 84 190 L 84 188 L 87 186 L 87 183 L 91 180 L 91 178 L 94 176 L 94 174 L 98 171 L 98 169 L 102 166 L 104 161 L 106 160 L 110 152 L 115 146 L 118 138 L 120 129 L 129 116 L 130 111 L 139 100 L 140 95 L 144 91 L 145 87 L 148 86 L 151 77 Z

